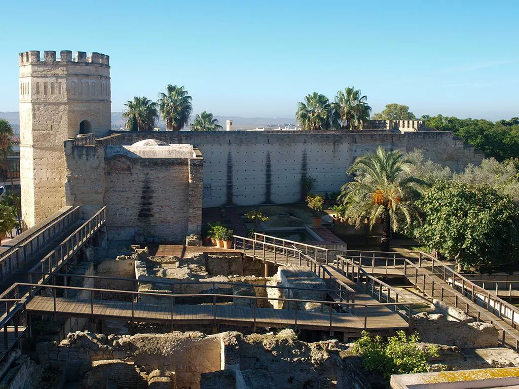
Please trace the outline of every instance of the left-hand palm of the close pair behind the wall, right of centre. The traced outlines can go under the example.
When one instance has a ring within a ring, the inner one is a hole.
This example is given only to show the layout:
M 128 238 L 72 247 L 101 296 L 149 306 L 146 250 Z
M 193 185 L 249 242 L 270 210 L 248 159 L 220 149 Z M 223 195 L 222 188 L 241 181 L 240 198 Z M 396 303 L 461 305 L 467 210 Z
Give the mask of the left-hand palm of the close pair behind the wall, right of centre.
M 297 103 L 296 119 L 303 130 L 329 130 L 335 127 L 335 118 L 330 101 L 324 94 L 313 92 L 305 102 Z

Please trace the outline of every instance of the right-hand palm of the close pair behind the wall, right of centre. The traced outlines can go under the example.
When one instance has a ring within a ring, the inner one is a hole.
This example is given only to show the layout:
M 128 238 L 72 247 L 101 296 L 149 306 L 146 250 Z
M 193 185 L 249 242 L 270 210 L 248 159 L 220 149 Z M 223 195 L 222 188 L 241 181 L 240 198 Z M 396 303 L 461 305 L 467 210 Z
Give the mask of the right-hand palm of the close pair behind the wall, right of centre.
M 338 91 L 333 109 L 340 116 L 343 128 L 362 130 L 370 120 L 371 107 L 367 105 L 367 96 L 361 95 L 360 89 L 348 87 Z

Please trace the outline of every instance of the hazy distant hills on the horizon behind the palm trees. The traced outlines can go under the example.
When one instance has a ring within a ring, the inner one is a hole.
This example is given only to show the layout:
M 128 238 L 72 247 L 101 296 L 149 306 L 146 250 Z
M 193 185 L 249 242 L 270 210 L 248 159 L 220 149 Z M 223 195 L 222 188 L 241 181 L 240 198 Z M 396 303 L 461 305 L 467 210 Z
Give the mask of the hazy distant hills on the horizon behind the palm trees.
M 194 115 L 193 115 L 194 117 Z M 192 117 L 192 119 L 193 119 Z M 9 123 L 18 130 L 20 125 L 20 116 L 18 112 L 0 112 L 0 118 L 7 119 Z M 215 116 L 221 126 L 225 128 L 225 122 L 227 119 L 233 119 L 233 126 L 235 130 L 249 130 L 256 127 L 283 127 L 295 126 L 294 118 L 244 118 L 241 116 Z M 124 127 L 125 122 L 121 118 L 120 112 L 112 112 L 112 128 Z M 159 127 L 165 127 L 166 124 L 160 120 L 158 122 Z M 18 132 L 18 131 L 15 131 Z

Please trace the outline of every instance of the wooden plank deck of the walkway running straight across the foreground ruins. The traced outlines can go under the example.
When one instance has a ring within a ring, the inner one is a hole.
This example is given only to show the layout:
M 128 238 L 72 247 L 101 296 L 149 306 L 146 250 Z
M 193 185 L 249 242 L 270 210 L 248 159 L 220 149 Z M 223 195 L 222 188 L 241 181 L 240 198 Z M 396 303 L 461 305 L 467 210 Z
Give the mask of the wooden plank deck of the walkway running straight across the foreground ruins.
M 168 296 L 165 296 L 168 297 Z M 382 309 L 381 309 L 382 308 Z M 272 308 L 250 308 L 222 304 L 147 304 L 142 302 L 104 301 L 89 299 L 34 296 L 26 305 L 31 314 L 61 314 L 107 319 L 124 319 L 153 323 L 228 324 L 259 327 L 296 327 L 301 329 L 359 332 L 367 330 L 404 329 L 407 322 L 397 313 L 372 307 L 356 309 L 358 313 L 308 312 Z M 391 314 L 388 315 L 388 312 Z

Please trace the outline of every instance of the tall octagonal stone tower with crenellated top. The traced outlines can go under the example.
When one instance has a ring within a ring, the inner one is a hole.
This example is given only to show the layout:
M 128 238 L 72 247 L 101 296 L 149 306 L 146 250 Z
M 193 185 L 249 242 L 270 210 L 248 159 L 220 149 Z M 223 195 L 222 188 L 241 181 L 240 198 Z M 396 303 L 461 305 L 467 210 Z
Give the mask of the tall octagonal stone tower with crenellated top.
M 65 205 L 63 142 L 111 128 L 110 58 L 100 53 L 20 53 L 22 217 L 32 227 Z

